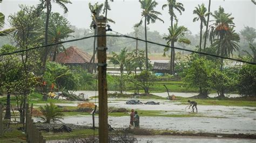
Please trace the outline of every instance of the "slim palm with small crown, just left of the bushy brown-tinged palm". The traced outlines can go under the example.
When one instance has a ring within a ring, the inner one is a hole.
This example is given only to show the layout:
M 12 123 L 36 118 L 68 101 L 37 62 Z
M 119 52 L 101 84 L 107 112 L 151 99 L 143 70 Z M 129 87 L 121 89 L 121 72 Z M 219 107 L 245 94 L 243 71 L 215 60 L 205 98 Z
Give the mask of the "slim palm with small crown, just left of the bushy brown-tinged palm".
M 199 51 L 201 52 L 201 43 L 202 43 L 202 30 L 203 30 L 203 24 L 206 25 L 205 16 L 207 9 L 205 8 L 204 4 L 198 5 L 195 10 L 193 10 L 193 14 L 197 15 L 193 19 L 193 22 L 196 22 L 200 19 L 200 42 L 199 42 Z

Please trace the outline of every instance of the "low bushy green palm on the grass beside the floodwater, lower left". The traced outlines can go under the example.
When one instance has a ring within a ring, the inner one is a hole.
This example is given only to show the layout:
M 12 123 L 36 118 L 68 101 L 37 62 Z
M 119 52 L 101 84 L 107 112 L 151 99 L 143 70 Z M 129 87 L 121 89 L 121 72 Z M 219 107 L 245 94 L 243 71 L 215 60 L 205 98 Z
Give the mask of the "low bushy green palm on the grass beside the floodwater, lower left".
M 39 109 L 43 113 L 43 116 L 40 118 L 44 123 L 56 122 L 63 119 L 62 116 L 64 116 L 64 114 L 62 113 L 62 110 L 53 103 L 50 103 L 50 105 L 46 104 L 44 106 L 40 106 Z

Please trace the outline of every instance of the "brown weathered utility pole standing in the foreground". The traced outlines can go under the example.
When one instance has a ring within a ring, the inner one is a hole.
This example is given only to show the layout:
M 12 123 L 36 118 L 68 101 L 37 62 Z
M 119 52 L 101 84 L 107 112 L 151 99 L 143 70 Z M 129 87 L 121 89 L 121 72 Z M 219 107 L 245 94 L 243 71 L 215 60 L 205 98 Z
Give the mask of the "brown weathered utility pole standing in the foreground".
M 106 18 L 97 18 L 97 35 L 106 35 Z M 99 89 L 99 142 L 109 142 L 107 124 L 106 37 L 97 38 L 98 89 Z

